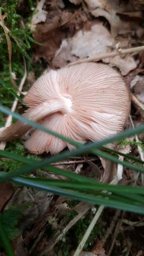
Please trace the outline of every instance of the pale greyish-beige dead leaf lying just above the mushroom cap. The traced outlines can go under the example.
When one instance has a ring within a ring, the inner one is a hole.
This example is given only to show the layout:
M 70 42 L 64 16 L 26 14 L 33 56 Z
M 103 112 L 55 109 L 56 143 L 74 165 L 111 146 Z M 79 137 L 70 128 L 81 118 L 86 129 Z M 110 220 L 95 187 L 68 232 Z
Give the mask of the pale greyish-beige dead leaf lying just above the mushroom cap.
M 55 53 L 53 66 L 64 67 L 68 61 L 74 62 L 77 58 L 108 53 L 114 42 L 109 31 L 101 24 L 92 26 L 89 31 L 79 30 L 73 38 L 62 41 L 60 49 Z

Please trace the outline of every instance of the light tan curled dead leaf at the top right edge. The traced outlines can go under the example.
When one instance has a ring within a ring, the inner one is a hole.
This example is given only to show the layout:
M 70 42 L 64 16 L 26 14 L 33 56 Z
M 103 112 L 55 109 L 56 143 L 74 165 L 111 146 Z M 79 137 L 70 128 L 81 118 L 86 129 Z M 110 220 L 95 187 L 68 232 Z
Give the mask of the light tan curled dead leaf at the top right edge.
M 111 35 L 113 37 L 116 37 L 118 34 L 131 33 L 132 30 L 137 30 L 139 27 L 137 25 L 135 26 L 135 20 L 126 19 L 130 17 L 130 12 L 132 13 L 134 11 L 135 4 L 132 4 L 130 1 L 119 3 L 118 0 L 70 0 L 70 2 L 74 4 L 86 4 L 88 10 L 94 17 L 105 17 L 110 23 Z M 127 10 L 129 10 L 129 15 L 127 14 Z M 139 10 L 141 11 L 141 9 Z M 135 12 L 133 13 L 135 14 Z M 118 14 L 122 17 L 119 17 Z

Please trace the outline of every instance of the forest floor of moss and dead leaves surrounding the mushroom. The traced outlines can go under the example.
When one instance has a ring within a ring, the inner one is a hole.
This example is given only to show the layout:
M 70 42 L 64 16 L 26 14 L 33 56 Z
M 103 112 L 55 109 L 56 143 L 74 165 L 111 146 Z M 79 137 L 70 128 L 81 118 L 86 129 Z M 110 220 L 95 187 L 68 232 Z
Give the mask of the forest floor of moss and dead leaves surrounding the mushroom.
M 125 129 L 143 124 L 143 1 L 41 0 L 35 3 L 25 0 L 5 0 L 2 2 L 0 100 L 3 106 L 11 108 L 14 102 L 13 111 L 16 109 L 22 114 L 25 110 L 21 102 L 15 98 L 11 83 L 13 86 L 16 83 L 20 84 L 19 91 L 26 92 L 40 75 L 46 74 L 50 69 L 63 68 L 76 61 L 97 61 L 107 63 L 117 70 L 131 91 L 131 118 L 127 121 Z M 4 39 L 3 22 L 5 28 L 11 31 L 11 43 Z M 7 44 L 9 47 L 6 46 Z M 11 50 L 12 62 L 9 61 Z M 9 87 L 8 92 L 6 84 Z M 0 118 L 1 126 L 4 126 L 6 115 L 1 113 Z M 13 121 L 9 117 L 7 126 L 11 122 Z M 139 138 L 132 137 L 129 141 L 121 141 L 119 147 L 122 153 L 131 153 L 132 156 L 143 161 L 143 143 L 144 133 L 140 134 Z M 50 155 L 50 153 L 43 153 L 41 156 L 29 154 L 20 139 L 11 143 L 2 142 L 1 149 L 14 151 L 38 161 L 41 157 Z M 0 159 L 0 165 L 1 171 L 5 172 L 21 167 L 21 163 L 7 161 L 3 157 Z M 101 158 L 93 154 L 71 157 L 56 163 L 55 166 L 92 179 L 99 178 L 99 172 L 107 173 L 110 177 L 111 173 L 117 170 L 116 164 L 104 159 L 101 161 Z M 46 172 L 42 170 L 35 171 L 33 175 L 47 178 Z M 51 178 L 63 179 L 58 174 L 51 174 Z M 124 167 L 123 178 L 119 184 L 142 187 L 143 176 Z M 78 244 L 93 220 L 97 205 L 59 197 L 33 188 L 22 188 L 12 183 L 0 185 L 0 197 L 1 212 L 10 209 L 11 206 L 20 207 L 22 203 L 33 202 L 33 207 L 22 210 L 22 216 L 18 225 L 13 225 L 13 231 L 9 230 L 15 238 L 11 239 L 15 255 L 144 255 L 144 217 L 141 214 L 107 207 L 102 209 L 82 252 L 75 254 Z M 19 215 L 18 212 L 12 214 Z M 2 248 L 0 255 L 6 255 Z

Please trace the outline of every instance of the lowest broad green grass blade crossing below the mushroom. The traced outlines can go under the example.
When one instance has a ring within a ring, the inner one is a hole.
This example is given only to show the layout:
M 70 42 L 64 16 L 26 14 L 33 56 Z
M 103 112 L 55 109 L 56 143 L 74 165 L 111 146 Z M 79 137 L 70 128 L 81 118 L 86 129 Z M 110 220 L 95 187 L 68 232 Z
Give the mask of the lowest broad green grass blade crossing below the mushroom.
M 107 195 L 106 198 L 101 197 L 101 196 L 98 197 L 98 196 L 94 196 L 94 195 L 87 195 L 86 193 L 82 193 L 81 191 L 78 192 L 78 191 L 70 190 L 70 188 L 65 189 L 65 188 L 56 186 L 58 184 L 55 184 L 56 182 L 54 182 L 54 180 L 51 180 L 51 183 L 50 183 L 49 180 L 45 180 L 45 179 L 38 181 L 38 179 L 15 177 L 15 178 L 12 178 L 12 181 L 20 183 L 20 184 L 28 186 L 28 187 L 46 190 L 46 191 L 49 191 L 49 192 L 57 194 L 57 195 L 67 196 L 69 198 L 77 199 L 80 201 L 86 201 L 86 202 L 90 202 L 90 203 L 98 204 L 98 205 L 103 204 L 108 207 L 113 207 L 113 208 L 121 209 L 121 210 L 123 209 L 125 211 L 131 211 L 131 212 L 136 211 L 139 213 L 144 213 L 144 212 L 142 212 L 142 209 L 144 210 L 143 198 L 142 198 L 142 201 L 138 200 L 135 202 L 133 199 L 134 193 L 132 193 L 132 195 L 131 195 L 132 196 L 131 202 L 130 202 L 130 198 L 127 201 L 124 200 L 124 202 L 123 202 L 123 200 L 121 200 L 119 202 L 118 201 L 119 195 L 118 195 L 118 197 L 116 197 L 116 195 L 114 195 L 114 196 Z M 54 182 L 54 183 L 52 183 L 52 182 Z M 61 181 L 58 180 L 57 183 L 60 183 L 60 182 Z M 70 182 L 70 184 L 71 184 L 71 182 Z M 55 185 L 55 186 L 52 186 L 52 185 Z M 79 184 L 78 184 L 78 186 L 79 186 Z M 113 187 L 113 185 L 111 185 L 111 187 Z M 104 193 L 103 195 L 105 196 L 106 194 Z M 108 197 L 109 197 L 109 199 L 108 199 Z M 137 199 L 137 196 L 135 198 Z M 140 199 L 140 197 L 139 197 L 139 199 Z

